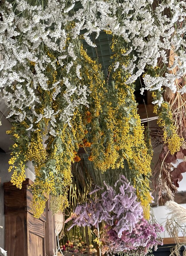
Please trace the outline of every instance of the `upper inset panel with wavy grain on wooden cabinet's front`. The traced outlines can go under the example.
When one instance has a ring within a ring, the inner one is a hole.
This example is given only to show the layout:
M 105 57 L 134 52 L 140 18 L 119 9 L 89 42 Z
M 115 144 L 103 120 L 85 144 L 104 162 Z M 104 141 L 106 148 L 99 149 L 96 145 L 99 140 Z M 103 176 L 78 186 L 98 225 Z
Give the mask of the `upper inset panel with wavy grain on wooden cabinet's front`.
M 28 213 L 28 231 L 43 238 L 45 236 L 44 222 L 40 219 L 35 219 L 33 215 Z

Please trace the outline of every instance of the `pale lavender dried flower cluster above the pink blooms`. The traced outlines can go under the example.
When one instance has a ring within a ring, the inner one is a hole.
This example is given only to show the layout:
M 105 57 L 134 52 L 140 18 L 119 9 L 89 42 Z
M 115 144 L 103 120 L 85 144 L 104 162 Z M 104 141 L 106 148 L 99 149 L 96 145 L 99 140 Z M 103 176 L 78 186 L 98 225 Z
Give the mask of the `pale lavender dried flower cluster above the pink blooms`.
M 66 220 L 66 222 L 73 220 L 70 228 L 74 225 L 97 227 L 98 223 L 105 221 L 110 226 L 114 225 L 113 230 L 117 232 L 118 237 L 121 237 L 124 230 L 132 231 L 135 223 L 142 218 L 143 210 L 137 202 L 135 189 L 123 175 L 114 187 L 118 184 L 120 186 L 117 193 L 114 188 L 104 182 L 106 190 L 102 192 L 100 198 L 90 199 L 89 202 L 78 205 L 72 216 Z M 90 194 L 104 188 L 96 187 Z

